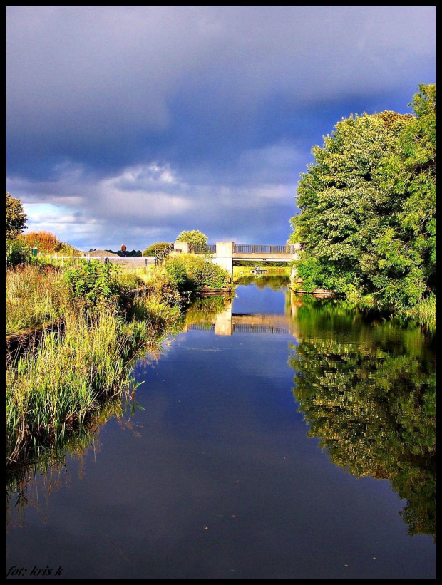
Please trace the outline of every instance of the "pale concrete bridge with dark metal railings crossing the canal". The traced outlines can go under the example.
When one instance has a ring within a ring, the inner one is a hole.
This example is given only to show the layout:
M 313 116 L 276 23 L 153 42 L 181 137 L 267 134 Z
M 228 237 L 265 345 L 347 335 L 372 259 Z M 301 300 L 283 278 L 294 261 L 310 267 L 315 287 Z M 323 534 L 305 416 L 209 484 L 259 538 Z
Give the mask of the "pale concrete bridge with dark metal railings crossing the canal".
M 234 260 L 247 260 L 255 262 L 291 262 L 298 258 L 301 244 L 287 244 L 282 246 L 274 245 L 255 245 L 255 244 L 235 244 L 235 242 L 216 242 L 216 244 L 205 244 L 204 246 L 195 247 L 187 242 L 175 242 L 170 244 L 168 249 L 158 254 L 165 257 L 177 254 L 197 254 L 207 257 L 215 264 L 219 264 L 227 270 L 229 274 L 233 273 Z M 157 254 L 155 254 L 155 259 Z

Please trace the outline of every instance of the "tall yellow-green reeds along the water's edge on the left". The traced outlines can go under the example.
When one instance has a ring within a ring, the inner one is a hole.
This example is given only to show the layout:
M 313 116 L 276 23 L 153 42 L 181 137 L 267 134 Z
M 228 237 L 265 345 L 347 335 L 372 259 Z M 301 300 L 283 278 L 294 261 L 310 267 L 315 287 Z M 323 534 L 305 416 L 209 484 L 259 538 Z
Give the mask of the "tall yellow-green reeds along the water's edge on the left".
M 135 358 L 179 316 L 164 308 L 155 321 L 146 299 L 133 308 L 131 322 L 109 308 L 71 312 L 63 335 L 48 331 L 36 353 L 6 368 L 6 465 L 63 442 L 104 400 L 127 392 Z

